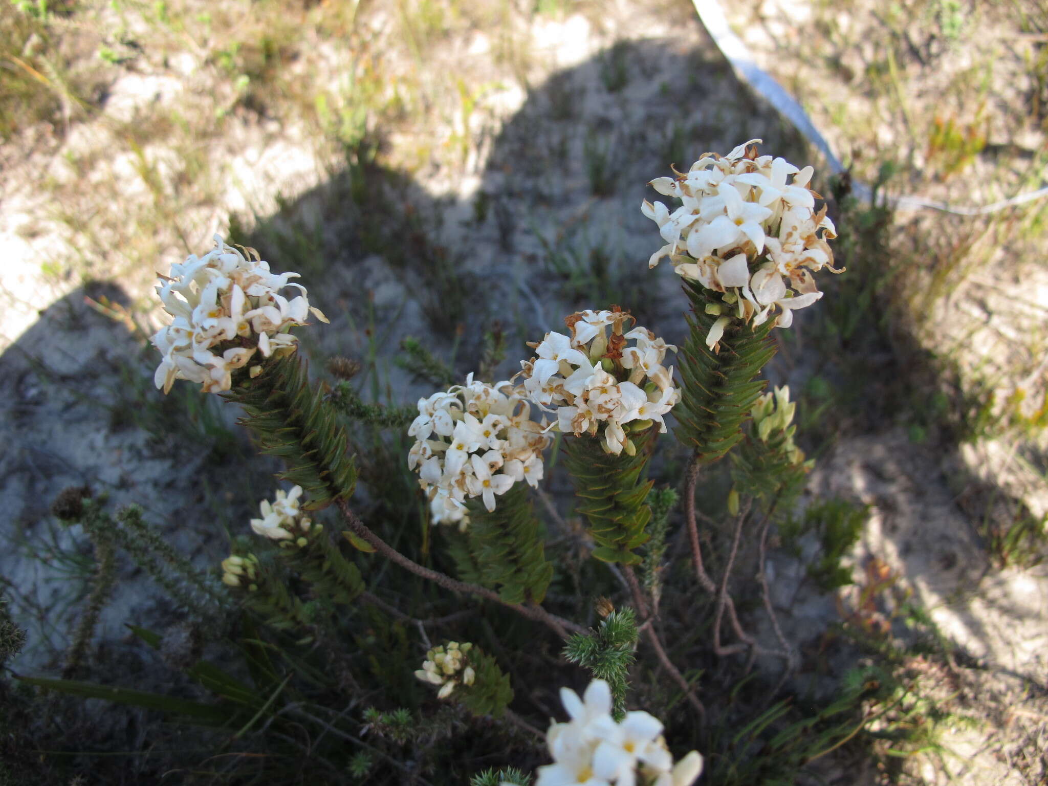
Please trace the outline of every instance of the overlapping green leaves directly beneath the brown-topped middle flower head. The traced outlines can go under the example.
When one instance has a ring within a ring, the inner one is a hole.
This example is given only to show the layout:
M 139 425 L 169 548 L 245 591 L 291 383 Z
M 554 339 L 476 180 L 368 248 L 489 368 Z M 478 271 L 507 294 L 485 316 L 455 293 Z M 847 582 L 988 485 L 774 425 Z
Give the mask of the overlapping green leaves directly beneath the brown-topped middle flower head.
M 564 464 L 575 487 L 576 509 L 589 522 L 597 544 L 593 555 L 598 560 L 625 565 L 640 562 L 633 549 L 650 537 L 645 529 L 651 519 L 646 499 L 653 481 L 645 481 L 643 476 L 657 436 L 654 425 L 630 434 L 636 447 L 633 456 L 625 450 L 618 456 L 605 453 L 597 437 L 564 440 Z

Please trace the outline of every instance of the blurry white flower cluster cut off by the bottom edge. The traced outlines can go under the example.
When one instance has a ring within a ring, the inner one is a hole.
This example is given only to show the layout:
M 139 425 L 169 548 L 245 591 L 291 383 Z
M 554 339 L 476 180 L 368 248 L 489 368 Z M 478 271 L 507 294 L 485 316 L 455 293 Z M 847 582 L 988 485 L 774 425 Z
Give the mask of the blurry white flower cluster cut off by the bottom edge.
M 691 786 L 702 772 L 695 750 L 674 764 L 657 718 L 638 711 L 616 723 L 604 680 L 590 682 L 582 699 L 563 687 L 561 701 L 571 720 L 550 725 L 546 744 L 553 763 L 539 767 L 534 786 Z

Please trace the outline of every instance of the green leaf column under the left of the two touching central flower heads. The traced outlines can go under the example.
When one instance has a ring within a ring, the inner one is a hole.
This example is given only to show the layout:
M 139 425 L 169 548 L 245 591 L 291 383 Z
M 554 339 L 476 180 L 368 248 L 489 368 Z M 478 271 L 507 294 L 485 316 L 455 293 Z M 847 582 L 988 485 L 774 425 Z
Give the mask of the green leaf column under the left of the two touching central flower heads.
M 527 487 L 515 483 L 492 512 L 470 504 L 470 526 L 453 540 L 452 556 L 460 576 L 498 588 L 506 603 L 542 603 L 553 577 L 542 534 Z

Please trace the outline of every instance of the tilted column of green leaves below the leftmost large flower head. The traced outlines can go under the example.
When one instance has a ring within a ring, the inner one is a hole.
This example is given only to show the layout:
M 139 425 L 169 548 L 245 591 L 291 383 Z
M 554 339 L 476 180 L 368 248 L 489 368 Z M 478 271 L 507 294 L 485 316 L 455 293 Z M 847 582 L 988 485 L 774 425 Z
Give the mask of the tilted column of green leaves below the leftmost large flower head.
M 351 497 L 356 471 L 346 455 L 346 433 L 323 391 L 310 387 L 306 362 L 292 352 L 265 364 L 254 379 L 241 371 L 224 395 L 243 407 L 240 422 L 262 453 L 283 459 L 287 468 L 280 477 L 302 486 L 309 509 Z

